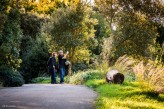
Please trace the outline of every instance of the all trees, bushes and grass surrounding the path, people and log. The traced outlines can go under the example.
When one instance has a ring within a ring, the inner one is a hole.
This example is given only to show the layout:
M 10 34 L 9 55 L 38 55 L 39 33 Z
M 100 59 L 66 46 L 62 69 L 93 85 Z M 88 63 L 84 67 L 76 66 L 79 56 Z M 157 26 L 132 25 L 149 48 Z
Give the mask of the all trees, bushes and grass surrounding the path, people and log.
M 50 83 L 47 60 L 59 49 L 70 52 L 66 82 L 94 88 L 99 109 L 164 107 L 161 0 L 0 1 L 0 85 Z M 105 82 L 112 69 L 122 85 Z

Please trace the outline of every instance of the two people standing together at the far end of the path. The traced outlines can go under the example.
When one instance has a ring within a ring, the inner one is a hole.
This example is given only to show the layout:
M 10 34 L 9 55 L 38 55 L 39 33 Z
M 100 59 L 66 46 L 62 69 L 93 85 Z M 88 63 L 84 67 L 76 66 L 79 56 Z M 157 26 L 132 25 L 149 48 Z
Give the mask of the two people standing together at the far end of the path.
M 62 50 L 59 50 L 57 52 L 53 52 L 52 56 L 48 59 L 48 70 L 51 74 L 51 84 L 56 84 L 56 72 L 59 70 L 60 72 L 60 83 L 64 83 L 64 76 L 66 73 L 66 58 L 67 58 L 68 52 L 66 54 L 63 53 Z M 57 60 L 58 58 L 58 64 Z

